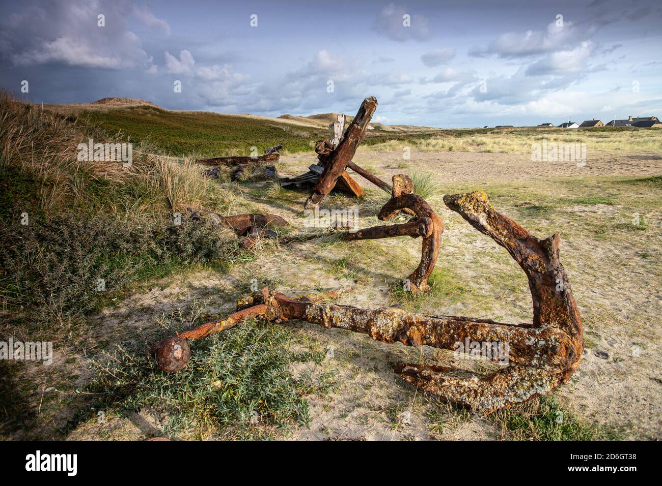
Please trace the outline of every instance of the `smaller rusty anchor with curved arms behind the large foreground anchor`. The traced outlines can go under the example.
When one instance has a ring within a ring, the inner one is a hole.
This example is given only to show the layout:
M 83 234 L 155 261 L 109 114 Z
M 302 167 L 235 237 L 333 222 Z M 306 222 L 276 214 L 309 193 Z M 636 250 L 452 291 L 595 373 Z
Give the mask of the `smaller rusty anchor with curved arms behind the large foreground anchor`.
M 414 214 L 408 222 L 396 225 L 373 226 L 358 231 L 344 233 L 347 240 L 389 238 L 395 236 L 410 236 L 423 238 L 420 263 L 410 274 L 405 284 L 410 292 L 422 292 L 430 289 L 428 277 L 434 269 L 439 255 L 444 222 L 421 196 L 414 194 L 414 184 L 404 174 L 393 176 L 391 199 L 382 206 L 377 218 L 390 220 L 401 210 Z

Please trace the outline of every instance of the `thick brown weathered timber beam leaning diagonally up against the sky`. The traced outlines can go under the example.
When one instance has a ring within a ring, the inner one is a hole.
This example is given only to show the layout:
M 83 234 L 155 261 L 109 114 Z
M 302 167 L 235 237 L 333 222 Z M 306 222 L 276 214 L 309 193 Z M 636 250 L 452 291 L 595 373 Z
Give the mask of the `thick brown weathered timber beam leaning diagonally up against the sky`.
M 326 160 L 324 173 L 320 176 L 317 184 L 312 189 L 312 194 L 304 204 L 306 209 L 314 209 L 319 206 L 324 197 L 336 186 L 336 181 L 345 172 L 347 164 L 352 161 L 356 148 L 363 140 L 365 130 L 375 109 L 377 109 L 377 99 L 375 97 L 368 97 L 363 100 L 354 120 L 345 130 L 344 137 L 338 143 L 338 147 L 335 147 Z

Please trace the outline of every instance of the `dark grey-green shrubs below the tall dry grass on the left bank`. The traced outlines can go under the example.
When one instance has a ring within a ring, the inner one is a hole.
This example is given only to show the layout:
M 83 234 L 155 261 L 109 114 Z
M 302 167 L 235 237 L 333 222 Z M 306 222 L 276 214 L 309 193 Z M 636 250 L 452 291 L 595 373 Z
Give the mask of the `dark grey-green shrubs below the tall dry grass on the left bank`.
M 62 214 L 31 225 L 0 221 L 0 230 L 0 297 L 23 315 L 26 332 L 46 341 L 69 335 L 71 325 L 136 282 L 199 263 L 222 269 L 241 258 L 237 239 L 211 223 L 126 225 Z

